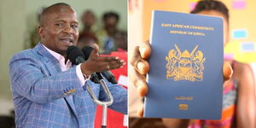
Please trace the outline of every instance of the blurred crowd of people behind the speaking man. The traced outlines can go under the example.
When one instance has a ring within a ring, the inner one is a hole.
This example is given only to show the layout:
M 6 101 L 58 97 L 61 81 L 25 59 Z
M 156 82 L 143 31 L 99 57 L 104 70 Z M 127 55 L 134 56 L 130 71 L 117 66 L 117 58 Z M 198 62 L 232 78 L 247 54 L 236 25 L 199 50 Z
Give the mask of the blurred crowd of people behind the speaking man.
M 44 8 L 38 9 L 37 15 Z M 79 32 L 78 47 L 97 44 L 100 47 L 100 54 L 108 55 L 111 51 L 127 51 L 127 32 L 119 29 L 119 14 L 113 11 L 103 13 L 101 21 L 97 19 L 92 10 L 85 10 L 80 16 L 83 26 Z M 100 25 L 97 22 L 101 22 Z M 37 27 L 31 32 L 29 47 L 33 48 L 39 42 Z

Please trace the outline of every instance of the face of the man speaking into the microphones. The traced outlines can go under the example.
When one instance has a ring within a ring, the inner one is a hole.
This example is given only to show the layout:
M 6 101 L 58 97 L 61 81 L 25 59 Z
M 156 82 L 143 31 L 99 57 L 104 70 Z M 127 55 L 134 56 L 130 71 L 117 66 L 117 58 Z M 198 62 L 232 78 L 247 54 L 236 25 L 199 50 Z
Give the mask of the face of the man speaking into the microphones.
M 45 15 L 44 24 L 38 27 L 42 44 L 66 56 L 67 47 L 77 45 L 79 23 L 73 9 L 57 8 Z

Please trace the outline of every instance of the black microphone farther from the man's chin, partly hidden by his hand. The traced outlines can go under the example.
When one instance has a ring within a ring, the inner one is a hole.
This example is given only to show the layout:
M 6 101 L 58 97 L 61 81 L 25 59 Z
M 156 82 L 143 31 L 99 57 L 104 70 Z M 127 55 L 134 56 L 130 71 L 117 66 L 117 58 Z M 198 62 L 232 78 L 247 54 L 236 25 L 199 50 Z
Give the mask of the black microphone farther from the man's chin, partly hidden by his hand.
M 93 50 L 90 46 L 85 46 L 82 51 L 84 53 L 84 59 L 85 61 L 89 58 L 91 51 Z M 108 80 L 108 82 L 111 82 L 112 84 L 117 84 L 117 81 L 115 80 L 113 73 L 110 71 L 102 72 L 102 76 Z

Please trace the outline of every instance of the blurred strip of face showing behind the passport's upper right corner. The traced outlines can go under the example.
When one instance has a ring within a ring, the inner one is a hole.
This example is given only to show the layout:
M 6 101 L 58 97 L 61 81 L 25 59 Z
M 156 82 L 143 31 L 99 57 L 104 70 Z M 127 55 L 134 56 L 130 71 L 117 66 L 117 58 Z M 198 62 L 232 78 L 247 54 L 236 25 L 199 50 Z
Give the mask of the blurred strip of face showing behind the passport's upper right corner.
M 227 44 L 229 42 L 229 24 L 228 24 L 226 17 L 223 14 L 221 14 L 220 12 L 215 11 L 215 10 L 204 10 L 197 14 L 212 15 L 212 16 L 218 16 L 218 17 L 223 18 L 223 20 L 224 20 L 224 44 Z

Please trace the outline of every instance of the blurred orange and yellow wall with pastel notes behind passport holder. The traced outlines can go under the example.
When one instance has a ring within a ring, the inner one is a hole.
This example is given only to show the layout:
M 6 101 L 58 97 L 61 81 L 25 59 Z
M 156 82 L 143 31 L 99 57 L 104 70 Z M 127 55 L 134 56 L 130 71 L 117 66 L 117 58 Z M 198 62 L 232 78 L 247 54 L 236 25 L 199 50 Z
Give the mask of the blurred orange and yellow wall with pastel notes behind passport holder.
M 189 13 L 199 0 L 148 0 L 143 1 L 143 40 L 149 38 L 151 11 L 154 9 Z M 222 0 L 230 9 L 230 44 L 225 54 L 237 61 L 256 62 L 256 1 Z

